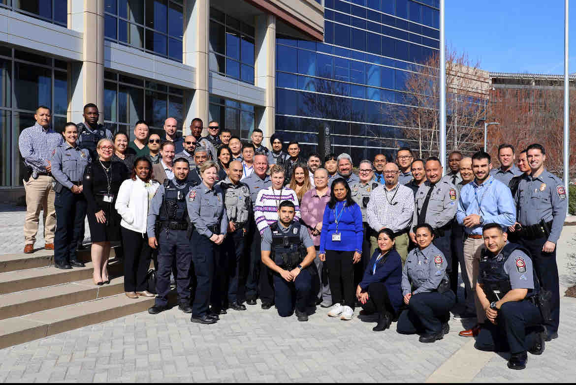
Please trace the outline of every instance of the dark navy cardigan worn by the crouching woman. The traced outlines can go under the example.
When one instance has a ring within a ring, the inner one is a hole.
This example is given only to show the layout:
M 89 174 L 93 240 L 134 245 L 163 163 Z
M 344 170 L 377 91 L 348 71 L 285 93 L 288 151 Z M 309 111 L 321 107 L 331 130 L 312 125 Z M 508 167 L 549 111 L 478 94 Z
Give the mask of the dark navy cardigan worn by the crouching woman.
M 366 291 L 370 284 L 380 282 L 384 283 L 386 290 L 388 290 L 388 298 L 390 303 L 394 307 L 395 311 L 398 311 L 402 304 L 402 261 L 400 260 L 400 254 L 396 249 L 388 251 L 388 255 L 380 258 L 378 264 L 376 265 L 376 273 L 374 271 L 374 263 L 376 263 L 376 258 L 380 255 L 380 249 L 376 249 L 370 262 L 366 266 L 366 271 L 362 277 L 360 287 L 363 291 Z

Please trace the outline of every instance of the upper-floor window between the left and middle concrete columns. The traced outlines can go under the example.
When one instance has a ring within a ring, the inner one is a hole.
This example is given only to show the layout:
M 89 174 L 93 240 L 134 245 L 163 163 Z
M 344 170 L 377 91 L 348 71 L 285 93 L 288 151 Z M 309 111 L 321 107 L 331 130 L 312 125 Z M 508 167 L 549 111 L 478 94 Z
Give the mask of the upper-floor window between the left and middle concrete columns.
M 105 0 L 106 40 L 182 62 L 183 0 Z

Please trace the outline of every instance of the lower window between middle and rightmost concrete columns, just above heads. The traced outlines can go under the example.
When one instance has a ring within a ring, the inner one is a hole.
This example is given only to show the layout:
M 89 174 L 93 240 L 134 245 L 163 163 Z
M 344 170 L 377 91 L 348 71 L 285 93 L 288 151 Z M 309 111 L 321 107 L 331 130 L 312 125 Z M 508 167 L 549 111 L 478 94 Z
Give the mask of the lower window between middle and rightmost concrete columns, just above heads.
M 254 106 L 211 96 L 210 120 L 217 121 L 222 128 L 228 128 L 232 135 L 249 140 L 255 124 Z

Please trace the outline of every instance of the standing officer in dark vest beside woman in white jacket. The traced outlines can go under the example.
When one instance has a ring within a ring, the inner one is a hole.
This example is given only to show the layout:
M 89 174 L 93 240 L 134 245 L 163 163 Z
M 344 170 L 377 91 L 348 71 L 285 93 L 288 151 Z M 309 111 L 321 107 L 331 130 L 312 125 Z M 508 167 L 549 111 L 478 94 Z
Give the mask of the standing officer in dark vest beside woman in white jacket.
M 154 306 L 148 309 L 150 314 L 158 314 L 166 310 L 168 306 L 170 273 L 174 261 L 176 261 L 178 308 L 185 313 L 192 312 L 190 307 L 191 224 L 187 202 L 194 184 L 187 181 L 188 170 L 188 161 L 184 158 L 177 158 L 172 166 L 174 179 L 166 179 L 150 202 L 146 228 L 148 244 L 153 249 L 160 248 L 156 279 L 158 295 Z

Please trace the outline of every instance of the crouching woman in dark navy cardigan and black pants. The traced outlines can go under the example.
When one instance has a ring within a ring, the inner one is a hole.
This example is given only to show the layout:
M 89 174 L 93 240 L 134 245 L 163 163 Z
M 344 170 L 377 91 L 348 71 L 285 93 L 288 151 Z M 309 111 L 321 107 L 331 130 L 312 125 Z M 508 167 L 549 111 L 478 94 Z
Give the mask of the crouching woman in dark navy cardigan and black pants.
M 367 313 L 377 313 L 378 325 L 372 330 L 388 329 L 402 304 L 402 261 L 394 248 L 394 232 L 382 228 L 378 232 L 378 249 L 366 266 L 356 298 Z

